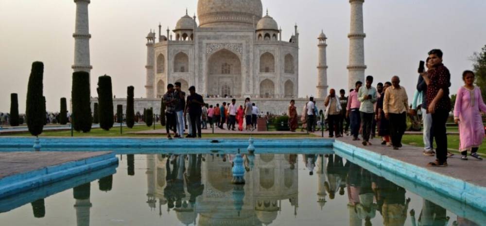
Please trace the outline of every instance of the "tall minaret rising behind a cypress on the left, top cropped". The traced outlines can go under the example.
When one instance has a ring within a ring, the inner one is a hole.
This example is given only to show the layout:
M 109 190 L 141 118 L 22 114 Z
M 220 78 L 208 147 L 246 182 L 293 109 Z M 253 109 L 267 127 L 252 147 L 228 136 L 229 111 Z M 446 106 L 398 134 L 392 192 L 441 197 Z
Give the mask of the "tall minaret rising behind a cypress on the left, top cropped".
M 74 0 L 76 3 L 76 29 L 74 37 L 74 64 L 71 68 L 74 71 L 91 72 L 93 68 L 89 62 L 89 23 L 88 4 L 90 0 Z

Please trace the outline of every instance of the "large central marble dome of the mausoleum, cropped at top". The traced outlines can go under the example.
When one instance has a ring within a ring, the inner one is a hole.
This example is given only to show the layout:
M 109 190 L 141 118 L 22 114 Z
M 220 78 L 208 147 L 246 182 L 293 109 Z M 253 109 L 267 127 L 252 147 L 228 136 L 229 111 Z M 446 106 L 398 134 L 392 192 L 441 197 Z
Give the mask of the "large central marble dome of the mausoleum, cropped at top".
M 263 13 L 261 0 L 199 0 L 200 27 L 252 28 Z M 255 19 L 253 18 L 255 17 Z

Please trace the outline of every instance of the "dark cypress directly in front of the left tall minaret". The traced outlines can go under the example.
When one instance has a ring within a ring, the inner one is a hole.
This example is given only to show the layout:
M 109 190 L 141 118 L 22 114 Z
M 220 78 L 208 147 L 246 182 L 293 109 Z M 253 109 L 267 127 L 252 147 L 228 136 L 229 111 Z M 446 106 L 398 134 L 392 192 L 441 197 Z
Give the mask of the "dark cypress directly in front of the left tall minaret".
M 89 91 L 89 73 L 76 71 L 72 73 L 72 127 L 76 131 L 87 133 L 91 130 L 91 103 Z

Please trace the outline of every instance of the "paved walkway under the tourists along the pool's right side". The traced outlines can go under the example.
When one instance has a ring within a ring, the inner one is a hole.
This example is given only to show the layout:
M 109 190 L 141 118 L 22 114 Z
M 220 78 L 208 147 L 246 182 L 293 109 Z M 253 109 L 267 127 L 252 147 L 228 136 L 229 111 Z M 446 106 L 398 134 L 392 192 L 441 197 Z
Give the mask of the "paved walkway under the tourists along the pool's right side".
M 424 169 L 431 170 L 440 174 L 445 174 L 454 178 L 486 187 L 486 160 L 477 160 L 468 156 L 469 160 L 461 160 L 460 155 L 455 155 L 447 160 L 449 167 L 426 167 L 427 163 L 434 161 L 435 157 L 424 156 L 422 148 L 410 145 L 403 145 L 400 150 L 393 150 L 391 147 L 381 145 L 380 139 L 373 139 L 371 146 L 363 146 L 362 141 L 353 141 L 351 137 L 338 138 L 338 140 L 352 144 L 357 147 L 363 147 L 384 156 L 389 156 L 400 161 L 414 164 Z M 486 157 L 486 156 L 483 156 Z

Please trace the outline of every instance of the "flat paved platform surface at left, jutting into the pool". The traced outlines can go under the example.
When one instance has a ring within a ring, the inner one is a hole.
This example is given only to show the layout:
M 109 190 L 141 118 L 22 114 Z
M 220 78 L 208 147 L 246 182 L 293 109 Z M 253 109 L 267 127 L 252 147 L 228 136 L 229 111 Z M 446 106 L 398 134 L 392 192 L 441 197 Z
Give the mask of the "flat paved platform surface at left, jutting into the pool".
M 0 179 L 6 176 L 102 156 L 109 152 L 0 152 Z

